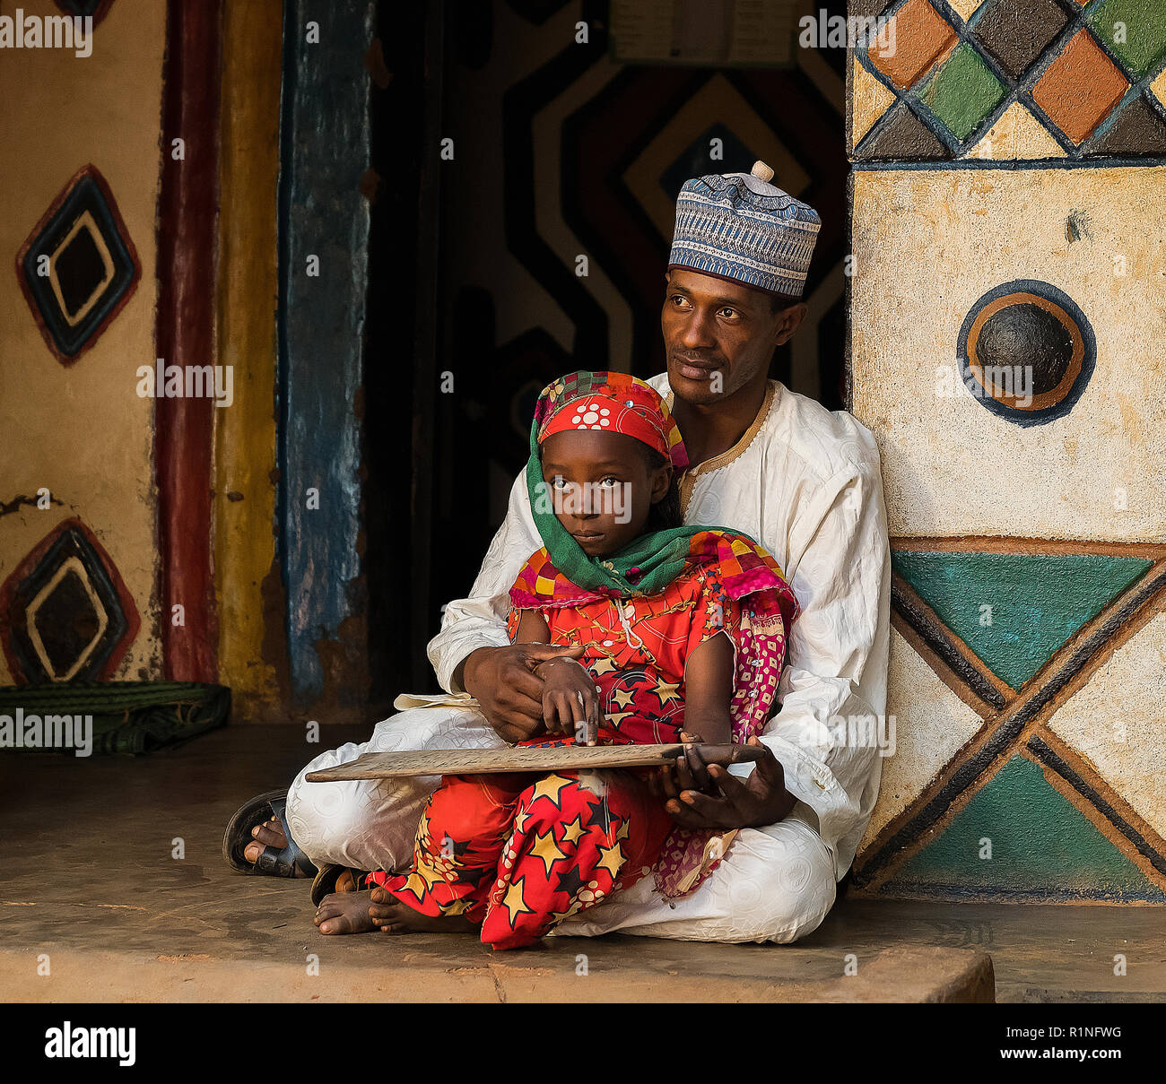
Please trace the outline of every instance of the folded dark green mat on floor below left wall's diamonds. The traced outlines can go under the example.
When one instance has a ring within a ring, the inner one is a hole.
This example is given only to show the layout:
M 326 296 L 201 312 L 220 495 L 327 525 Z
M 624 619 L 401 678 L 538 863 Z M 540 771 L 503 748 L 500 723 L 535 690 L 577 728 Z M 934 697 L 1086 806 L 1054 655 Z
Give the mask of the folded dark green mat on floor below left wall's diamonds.
M 45 717 L 92 716 L 91 755 L 150 753 L 224 726 L 230 710 L 231 690 L 226 685 L 197 682 L 8 685 L 0 688 L 0 752 L 77 755 L 79 741 L 68 747 L 43 747 L 51 740 L 50 728 L 58 734 L 70 730 L 63 722 L 45 726 Z M 37 719 L 33 728 L 42 731 L 42 747 L 15 748 L 17 731 L 27 733 L 33 716 Z

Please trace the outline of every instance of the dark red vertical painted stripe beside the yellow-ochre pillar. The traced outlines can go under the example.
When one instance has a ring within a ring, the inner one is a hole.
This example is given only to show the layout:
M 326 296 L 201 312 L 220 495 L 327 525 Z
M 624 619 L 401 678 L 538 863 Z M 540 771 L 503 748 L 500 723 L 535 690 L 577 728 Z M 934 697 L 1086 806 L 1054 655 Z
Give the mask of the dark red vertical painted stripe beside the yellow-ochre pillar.
M 213 365 L 220 0 L 169 0 L 157 227 L 157 357 Z M 176 161 L 171 141 L 182 139 Z M 213 682 L 218 633 L 211 558 L 215 400 L 154 402 L 166 676 Z M 230 409 L 230 408 L 226 408 Z M 171 607 L 185 610 L 175 627 Z

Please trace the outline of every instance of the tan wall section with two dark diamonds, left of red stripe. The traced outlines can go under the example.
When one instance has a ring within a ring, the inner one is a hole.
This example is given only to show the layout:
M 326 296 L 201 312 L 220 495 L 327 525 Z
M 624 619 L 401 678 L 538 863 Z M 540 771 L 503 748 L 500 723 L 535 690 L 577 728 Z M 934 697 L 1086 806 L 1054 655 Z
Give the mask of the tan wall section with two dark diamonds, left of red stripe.
M 21 7 L 61 14 L 49 0 Z M 154 360 L 164 38 L 163 3 L 118 0 L 94 27 L 87 57 L 0 56 L 0 592 L 15 606 L 0 619 L 0 683 L 43 678 L 45 669 L 161 674 L 153 401 L 136 394 L 136 367 Z M 84 182 L 85 167 L 104 182 Z M 90 200 L 92 231 L 48 238 L 47 283 L 55 298 L 57 282 L 62 298 L 54 323 L 51 303 L 45 319 L 26 298 L 17 255 L 29 241 L 35 254 L 38 232 L 62 225 L 44 216 L 71 182 Z M 73 352 L 61 350 L 52 326 Z M 36 506 L 42 488 L 47 508 Z M 38 550 L 66 520 L 76 529 Z M 33 634 L 37 620 L 44 635 Z

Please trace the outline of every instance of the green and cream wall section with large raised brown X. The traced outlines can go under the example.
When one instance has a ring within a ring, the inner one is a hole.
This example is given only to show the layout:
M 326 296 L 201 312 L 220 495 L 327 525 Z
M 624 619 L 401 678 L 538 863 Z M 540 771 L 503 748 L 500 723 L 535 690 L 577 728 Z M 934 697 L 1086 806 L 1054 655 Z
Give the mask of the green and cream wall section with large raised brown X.
M 898 675 L 858 889 L 1166 902 L 1166 545 L 900 539 L 892 565 L 893 654 L 955 706 Z

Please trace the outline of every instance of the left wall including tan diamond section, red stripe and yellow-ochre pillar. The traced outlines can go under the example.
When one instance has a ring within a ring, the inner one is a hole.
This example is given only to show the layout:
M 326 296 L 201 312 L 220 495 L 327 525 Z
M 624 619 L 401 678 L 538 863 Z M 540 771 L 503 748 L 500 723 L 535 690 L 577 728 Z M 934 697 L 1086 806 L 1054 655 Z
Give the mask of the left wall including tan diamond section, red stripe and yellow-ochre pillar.
M 0 54 L 0 91 L 22 103 L 0 115 L 2 683 L 222 681 L 236 719 L 287 718 L 281 19 L 281 0 L 117 0 L 87 57 Z M 139 394 L 159 356 L 230 366 L 230 406 Z

